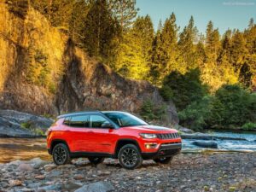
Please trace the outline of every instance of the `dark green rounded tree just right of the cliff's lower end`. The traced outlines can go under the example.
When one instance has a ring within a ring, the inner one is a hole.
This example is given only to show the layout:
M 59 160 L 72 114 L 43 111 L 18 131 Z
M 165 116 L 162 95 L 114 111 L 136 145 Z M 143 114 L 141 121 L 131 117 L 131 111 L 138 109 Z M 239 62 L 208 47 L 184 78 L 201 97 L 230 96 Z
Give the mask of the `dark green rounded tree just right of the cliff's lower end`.
M 185 74 L 177 71 L 170 73 L 164 79 L 160 92 L 165 100 L 170 100 L 172 96 L 177 109 L 183 110 L 190 103 L 201 100 L 207 94 L 207 86 L 202 84 L 200 70 L 196 68 Z

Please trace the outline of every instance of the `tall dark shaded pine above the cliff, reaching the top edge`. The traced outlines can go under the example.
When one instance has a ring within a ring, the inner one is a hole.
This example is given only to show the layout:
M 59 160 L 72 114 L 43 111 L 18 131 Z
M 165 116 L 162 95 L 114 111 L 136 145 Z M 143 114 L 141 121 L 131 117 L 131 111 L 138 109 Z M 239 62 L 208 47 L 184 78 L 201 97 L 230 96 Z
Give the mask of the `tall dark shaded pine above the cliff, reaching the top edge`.
M 119 25 L 112 18 L 106 0 L 91 4 L 85 20 L 84 45 L 90 56 L 108 60 L 113 39 L 119 34 Z

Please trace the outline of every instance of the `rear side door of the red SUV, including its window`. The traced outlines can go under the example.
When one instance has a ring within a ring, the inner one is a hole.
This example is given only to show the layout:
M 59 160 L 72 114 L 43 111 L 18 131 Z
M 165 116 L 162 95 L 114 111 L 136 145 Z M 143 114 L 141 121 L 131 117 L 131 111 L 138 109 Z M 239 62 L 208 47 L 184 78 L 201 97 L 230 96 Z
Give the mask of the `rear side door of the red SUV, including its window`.
M 69 119 L 69 139 L 73 143 L 73 152 L 90 151 L 89 115 L 76 115 Z

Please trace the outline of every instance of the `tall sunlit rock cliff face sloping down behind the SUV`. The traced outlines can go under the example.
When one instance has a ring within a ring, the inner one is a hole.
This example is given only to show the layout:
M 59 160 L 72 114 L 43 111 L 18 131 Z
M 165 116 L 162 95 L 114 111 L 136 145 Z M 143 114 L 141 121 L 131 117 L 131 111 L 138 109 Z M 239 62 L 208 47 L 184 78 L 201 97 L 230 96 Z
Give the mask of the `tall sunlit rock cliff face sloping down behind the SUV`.
M 138 113 L 146 99 L 164 103 L 154 86 L 120 77 L 90 58 L 34 9 L 22 13 L 0 3 L 0 108 L 54 115 L 86 109 Z M 45 66 L 47 85 L 38 83 Z M 175 125 L 175 106 L 166 104 L 166 123 Z

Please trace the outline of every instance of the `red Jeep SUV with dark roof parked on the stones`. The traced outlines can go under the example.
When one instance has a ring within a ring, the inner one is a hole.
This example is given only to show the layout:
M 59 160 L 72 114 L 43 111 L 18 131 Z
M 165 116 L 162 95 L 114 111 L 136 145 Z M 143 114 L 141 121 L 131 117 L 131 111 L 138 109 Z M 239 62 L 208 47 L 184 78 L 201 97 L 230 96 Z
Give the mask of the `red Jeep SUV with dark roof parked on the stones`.
M 115 158 L 126 169 L 148 159 L 167 164 L 181 150 L 181 142 L 176 130 L 148 125 L 119 111 L 63 114 L 47 133 L 47 148 L 56 165 L 76 157 L 88 157 L 93 164 Z

